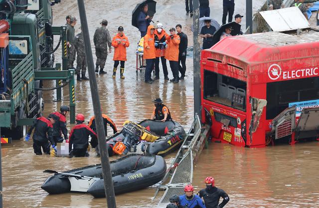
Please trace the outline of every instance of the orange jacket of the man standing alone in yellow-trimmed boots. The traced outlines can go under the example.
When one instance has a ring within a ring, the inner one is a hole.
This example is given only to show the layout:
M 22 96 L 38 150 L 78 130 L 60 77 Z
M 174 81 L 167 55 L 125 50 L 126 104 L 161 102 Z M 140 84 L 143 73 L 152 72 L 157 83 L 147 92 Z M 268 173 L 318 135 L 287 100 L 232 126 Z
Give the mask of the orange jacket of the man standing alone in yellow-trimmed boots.
M 118 43 L 118 41 L 121 43 Z M 114 47 L 113 61 L 127 61 L 126 59 L 126 48 L 130 46 L 129 39 L 123 34 L 116 34 L 112 40 L 112 46 Z

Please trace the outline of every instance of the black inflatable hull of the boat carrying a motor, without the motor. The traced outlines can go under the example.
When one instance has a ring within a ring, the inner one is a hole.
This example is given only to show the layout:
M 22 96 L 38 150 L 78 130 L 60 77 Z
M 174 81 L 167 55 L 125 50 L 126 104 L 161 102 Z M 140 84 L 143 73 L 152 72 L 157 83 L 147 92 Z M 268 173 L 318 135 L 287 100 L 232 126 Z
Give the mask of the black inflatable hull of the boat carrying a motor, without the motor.
M 158 135 L 159 138 L 145 148 L 143 142 L 140 144 L 139 140 L 131 140 L 130 143 L 126 142 L 125 137 L 128 132 L 123 128 L 121 132 L 114 134 L 108 139 L 109 156 L 116 154 L 113 151 L 113 147 L 118 141 L 126 143 L 126 146 L 128 146 L 128 149 L 130 149 L 131 152 L 136 152 L 137 148 L 142 148 L 142 151 L 148 155 L 165 156 L 178 149 L 186 137 L 184 128 L 174 120 L 162 122 L 146 119 L 140 122 L 139 125 L 145 127 L 155 135 Z M 140 146 L 136 147 L 135 145 L 137 144 L 140 144 Z

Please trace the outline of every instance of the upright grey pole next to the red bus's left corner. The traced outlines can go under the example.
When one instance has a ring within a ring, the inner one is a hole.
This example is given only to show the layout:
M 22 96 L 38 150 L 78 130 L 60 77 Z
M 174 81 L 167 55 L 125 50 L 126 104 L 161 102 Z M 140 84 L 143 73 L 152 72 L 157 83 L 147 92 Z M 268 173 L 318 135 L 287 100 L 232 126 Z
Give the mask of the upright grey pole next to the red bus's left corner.
M 200 44 L 199 44 L 199 0 L 193 0 L 193 66 L 194 66 L 194 116 L 201 117 L 200 92 Z

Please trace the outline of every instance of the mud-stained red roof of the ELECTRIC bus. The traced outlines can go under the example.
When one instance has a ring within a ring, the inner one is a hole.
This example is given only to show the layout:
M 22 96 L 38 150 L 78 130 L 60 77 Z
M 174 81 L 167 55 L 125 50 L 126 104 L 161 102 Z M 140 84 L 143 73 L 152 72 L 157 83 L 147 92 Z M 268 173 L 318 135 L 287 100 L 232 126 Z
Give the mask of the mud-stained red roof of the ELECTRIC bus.
M 264 32 L 227 37 L 212 48 L 203 50 L 201 59 L 221 62 L 226 56 L 228 64 L 235 66 L 239 64 L 241 68 L 245 68 L 243 65 L 246 64 L 255 65 L 275 61 L 291 61 L 292 58 L 317 57 L 312 64 L 317 62 L 319 65 L 318 31 L 319 28 L 317 31 L 311 30 L 300 35 Z

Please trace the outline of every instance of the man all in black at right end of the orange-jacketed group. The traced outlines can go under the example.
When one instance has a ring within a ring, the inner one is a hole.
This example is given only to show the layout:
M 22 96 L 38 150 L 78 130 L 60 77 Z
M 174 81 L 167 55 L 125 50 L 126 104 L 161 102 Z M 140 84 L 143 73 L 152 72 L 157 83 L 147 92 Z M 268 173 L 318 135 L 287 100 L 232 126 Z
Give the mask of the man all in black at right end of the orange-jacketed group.
M 179 80 L 183 80 L 186 72 L 186 51 L 187 51 L 187 35 L 181 31 L 181 25 L 176 25 L 177 35 L 179 35 L 179 53 L 178 53 L 178 71 L 180 72 Z M 181 63 L 181 66 L 180 66 Z

